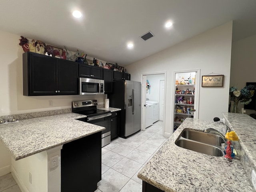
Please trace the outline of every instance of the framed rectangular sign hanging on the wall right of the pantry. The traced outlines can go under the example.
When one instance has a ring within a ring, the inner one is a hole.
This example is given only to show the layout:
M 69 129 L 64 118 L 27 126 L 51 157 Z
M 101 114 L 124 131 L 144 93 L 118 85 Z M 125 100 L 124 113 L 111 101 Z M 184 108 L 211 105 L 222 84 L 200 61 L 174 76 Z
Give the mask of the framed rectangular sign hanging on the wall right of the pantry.
M 202 76 L 202 87 L 223 87 L 224 75 Z

